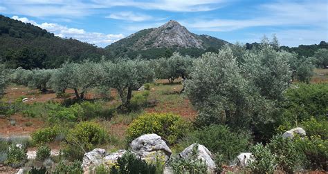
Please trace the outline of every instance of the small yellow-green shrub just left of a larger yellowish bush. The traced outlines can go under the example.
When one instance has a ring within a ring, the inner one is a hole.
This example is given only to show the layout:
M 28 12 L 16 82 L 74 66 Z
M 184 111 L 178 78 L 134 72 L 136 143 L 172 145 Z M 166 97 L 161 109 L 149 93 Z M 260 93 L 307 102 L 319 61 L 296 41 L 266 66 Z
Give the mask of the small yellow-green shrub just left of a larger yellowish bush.
M 32 133 L 31 137 L 35 144 L 47 144 L 53 142 L 59 133 L 57 126 L 54 126 L 53 128 L 39 129 Z

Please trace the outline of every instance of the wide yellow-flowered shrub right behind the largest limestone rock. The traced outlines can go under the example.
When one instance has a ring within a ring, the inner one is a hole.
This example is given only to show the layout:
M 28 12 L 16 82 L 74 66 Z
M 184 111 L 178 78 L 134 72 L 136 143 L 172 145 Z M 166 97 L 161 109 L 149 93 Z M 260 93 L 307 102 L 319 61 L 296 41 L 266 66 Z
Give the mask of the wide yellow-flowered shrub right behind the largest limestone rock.
M 127 128 L 127 140 L 136 139 L 144 134 L 156 133 L 169 144 L 175 144 L 176 140 L 183 137 L 190 130 L 190 124 L 181 116 L 170 113 L 148 113 L 140 115 Z

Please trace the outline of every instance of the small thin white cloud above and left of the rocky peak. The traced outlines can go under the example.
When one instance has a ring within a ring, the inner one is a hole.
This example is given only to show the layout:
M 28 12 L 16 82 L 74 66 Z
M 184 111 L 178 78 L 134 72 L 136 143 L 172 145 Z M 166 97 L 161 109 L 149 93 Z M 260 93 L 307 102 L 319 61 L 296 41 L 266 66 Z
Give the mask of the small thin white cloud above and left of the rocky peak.
M 134 12 L 118 12 L 118 13 L 112 13 L 106 18 L 111 19 L 120 19 L 125 21 L 147 21 L 149 19 L 152 19 L 151 16 L 147 14 L 140 14 L 140 13 L 134 13 Z

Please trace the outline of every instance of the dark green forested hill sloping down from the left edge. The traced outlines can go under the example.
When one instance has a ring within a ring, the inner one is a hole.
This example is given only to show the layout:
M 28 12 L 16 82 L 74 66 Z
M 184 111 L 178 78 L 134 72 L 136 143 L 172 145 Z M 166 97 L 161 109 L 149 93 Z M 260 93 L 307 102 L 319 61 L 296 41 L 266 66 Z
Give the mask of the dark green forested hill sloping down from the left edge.
M 105 51 L 0 14 L 0 64 L 8 68 L 57 68 L 64 61 L 100 59 Z

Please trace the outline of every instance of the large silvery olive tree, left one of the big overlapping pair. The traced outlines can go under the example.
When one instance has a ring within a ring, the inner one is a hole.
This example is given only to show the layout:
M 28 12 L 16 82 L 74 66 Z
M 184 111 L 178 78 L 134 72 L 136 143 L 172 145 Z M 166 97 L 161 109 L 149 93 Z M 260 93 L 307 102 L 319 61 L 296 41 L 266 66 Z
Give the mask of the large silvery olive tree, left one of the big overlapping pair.
M 190 77 L 185 92 L 199 110 L 199 124 L 248 122 L 248 82 L 230 48 L 202 55 L 194 62 Z

